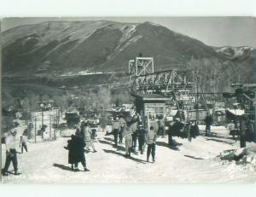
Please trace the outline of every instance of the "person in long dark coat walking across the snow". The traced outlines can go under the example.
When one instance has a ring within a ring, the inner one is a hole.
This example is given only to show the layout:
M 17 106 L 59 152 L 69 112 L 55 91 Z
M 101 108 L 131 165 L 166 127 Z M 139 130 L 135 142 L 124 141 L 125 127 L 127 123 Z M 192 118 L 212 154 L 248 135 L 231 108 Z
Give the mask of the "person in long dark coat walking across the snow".
M 89 171 L 86 167 L 84 147 L 84 140 L 79 136 L 78 132 L 76 133 L 76 136 L 72 135 L 71 140 L 68 141 L 68 163 L 71 164 L 74 171 L 79 171 L 79 162 L 83 165 L 84 171 Z

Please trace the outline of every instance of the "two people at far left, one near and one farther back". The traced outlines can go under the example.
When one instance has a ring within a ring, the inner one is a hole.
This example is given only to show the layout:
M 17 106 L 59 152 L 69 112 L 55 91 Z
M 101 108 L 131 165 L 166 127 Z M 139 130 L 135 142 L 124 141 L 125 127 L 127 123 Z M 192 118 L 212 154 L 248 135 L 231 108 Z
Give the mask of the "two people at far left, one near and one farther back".
M 5 159 L 5 165 L 2 170 L 3 176 L 8 176 L 9 175 L 9 165 L 11 162 L 14 165 L 15 169 L 15 175 L 19 175 L 20 172 L 18 171 L 18 159 L 17 159 L 17 154 L 23 154 L 23 149 L 26 150 L 27 152 L 27 136 L 22 134 L 20 136 L 20 139 L 17 137 L 17 130 L 13 129 L 10 130 L 9 136 L 6 136 L 3 140 L 5 143 L 6 147 L 6 159 Z M 18 152 L 18 146 L 21 149 L 21 152 Z

